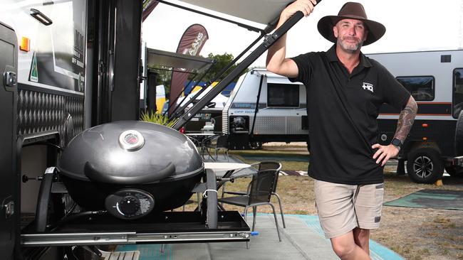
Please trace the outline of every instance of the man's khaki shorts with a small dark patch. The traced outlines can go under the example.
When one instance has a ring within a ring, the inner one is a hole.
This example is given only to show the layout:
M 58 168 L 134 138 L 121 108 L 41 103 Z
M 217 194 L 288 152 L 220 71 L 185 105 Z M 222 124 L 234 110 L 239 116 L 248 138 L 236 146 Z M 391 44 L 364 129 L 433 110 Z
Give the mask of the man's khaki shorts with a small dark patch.
M 318 217 L 326 238 L 339 237 L 355 227 L 380 227 L 383 183 L 345 185 L 315 180 Z

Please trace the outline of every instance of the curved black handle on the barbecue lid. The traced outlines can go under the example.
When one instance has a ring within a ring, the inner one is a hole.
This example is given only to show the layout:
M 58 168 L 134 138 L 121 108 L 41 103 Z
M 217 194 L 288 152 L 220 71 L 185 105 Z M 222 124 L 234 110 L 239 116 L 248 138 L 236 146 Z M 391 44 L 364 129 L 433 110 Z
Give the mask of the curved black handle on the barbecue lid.
M 87 178 L 92 181 L 99 183 L 109 183 L 109 184 L 143 184 L 143 183 L 152 183 L 157 180 L 162 180 L 168 176 L 175 173 L 175 165 L 173 163 L 168 163 L 165 168 L 162 170 L 150 171 L 150 172 L 140 172 L 140 175 L 137 176 L 120 176 L 112 173 L 105 173 L 102 170 L 98 170 L 91 163 L 86 162 L 83 168 L 83 171 Z

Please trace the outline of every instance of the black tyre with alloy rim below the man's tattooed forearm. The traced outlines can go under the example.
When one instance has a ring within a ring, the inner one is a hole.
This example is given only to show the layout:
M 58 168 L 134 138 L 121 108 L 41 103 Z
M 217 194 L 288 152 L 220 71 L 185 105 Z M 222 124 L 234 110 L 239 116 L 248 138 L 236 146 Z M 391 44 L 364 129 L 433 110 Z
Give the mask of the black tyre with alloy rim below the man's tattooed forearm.
M 419 148 L 407 156 L 407 173 L 415 183 L 435 183 L 444 174 L 444 161 L 433 148 Z

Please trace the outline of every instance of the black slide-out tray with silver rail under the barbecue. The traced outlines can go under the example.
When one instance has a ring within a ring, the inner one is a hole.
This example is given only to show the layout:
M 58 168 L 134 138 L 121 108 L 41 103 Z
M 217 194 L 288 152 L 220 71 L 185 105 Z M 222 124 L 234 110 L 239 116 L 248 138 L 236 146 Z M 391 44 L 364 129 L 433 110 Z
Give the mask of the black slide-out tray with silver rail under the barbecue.
M 246 242 L 251 235 L 248 224 L 237 211 L 218 212 L 217 229 L 204 224 L 200 212 L 160 212 L 139 220 L 118 220 L 97 216 L 73 220 L 52 232 L 21 232 L 24 247 L 162 244 L 204 242 Z

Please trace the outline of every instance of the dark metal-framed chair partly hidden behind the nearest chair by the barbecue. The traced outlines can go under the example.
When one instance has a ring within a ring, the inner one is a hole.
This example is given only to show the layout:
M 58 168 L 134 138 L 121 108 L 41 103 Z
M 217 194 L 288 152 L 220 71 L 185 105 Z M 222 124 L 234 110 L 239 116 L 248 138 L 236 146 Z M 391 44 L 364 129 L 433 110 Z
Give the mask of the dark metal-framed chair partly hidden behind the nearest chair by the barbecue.
M 259 163 L 252 163 L 251 167 L 256 168 L 257 172 L 259 172 L 260 170 L 276 170 L 277 173 L 280 173 L 281 163 L 278 163 L 276 161 L 262 161 L 262 162 L 259 162 Z M 230 178 L 236 180 L 236 178 L 242 178 L 242 177 L 246 177 L 246 176 L 250 176 L 250 175 L 254 174 L 254 173 L 240 174 L 239 173 L 240 171 L 241 170 L 236 170 L 233 173 L 233 175 L 231 175 Z M 278 193 L 276 193 L 276 184 L 278 183 L 278 177 L 279 177 L 279 174 L 276 175 L 276 181 L 274 183 L 274 186 L 272 187 L 271 195 L 275 196 L 276 200 L 278 200 L 278 205 L 280 207 L 280 214 L 281 214 L 281 222 L 283 222 L 283 228 L 286 228 L 286 223 L 284 221 L 284 214 L 283 214 L 283 206 L 281 205 L 281 198 L 278 195 Z M 225 183 L 224 183 L 223 188 L 222 188 L 222 198 L 224 197 L 224 194 L 244 195 L 246 193 L 243 193 L 243 192 L 241 192 L 241 193 L 240 192 L 227 192 L 225 190 Z

